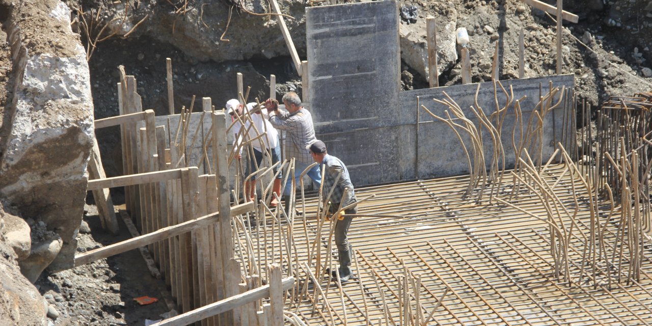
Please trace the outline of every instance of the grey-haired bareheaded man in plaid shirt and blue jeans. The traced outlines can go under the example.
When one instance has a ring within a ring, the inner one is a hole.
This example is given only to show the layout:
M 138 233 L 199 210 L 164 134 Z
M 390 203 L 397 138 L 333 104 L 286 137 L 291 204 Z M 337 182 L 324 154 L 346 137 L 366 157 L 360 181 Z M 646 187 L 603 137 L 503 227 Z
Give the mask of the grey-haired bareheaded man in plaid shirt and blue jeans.
M 286 131 L 285 153 L 288 159 L 295 158 L 294 176 L 295 185 L 299 183 L 301 172 L 312 164 L 310 151 L 306 149 L 315 138 L 315 129 L 312 125 L 312 115 L 301 106 L 301 98 L 294 92 L 288 92 L 283 96 L 283 104 L 286 110 L 278 110 L 278 102 L 271 98 L 265 101 L 265 108 L 269 112 L 269 122 L 278 130 Z M 308 177 L 317 186 L 321 185 L 321 172 L 317 166 L 308 170 Z M 286 214 L 289 215 L 289 196 L 291 194 L 291 177 L 288 178 L 283 189 L 283 198 L 286 202 Z M 295 186 L 296 187 L 296 186 Z

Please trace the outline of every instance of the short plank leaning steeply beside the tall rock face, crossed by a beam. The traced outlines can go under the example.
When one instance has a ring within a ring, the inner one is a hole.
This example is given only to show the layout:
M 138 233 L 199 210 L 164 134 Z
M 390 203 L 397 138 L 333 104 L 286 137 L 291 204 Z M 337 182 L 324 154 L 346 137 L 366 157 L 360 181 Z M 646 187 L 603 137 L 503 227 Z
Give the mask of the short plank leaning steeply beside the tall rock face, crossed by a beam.
M 91 151 L 91 158 L 88 162 L 88 171 L 90 179 L 106 178 L 104 168 L 102 167 L 100 147 L 97 145 L 97 139 L 95 137 L 93 137 L 93 150 Z M 95 205 L 97 206 L 97 211 L 100 215 L 102 228 L 113 234 L 118 233 L 120 228 L 118 226 L 118 220 L 115 218 L 115 209 L 113 208 L 113 200 L 111 200 L 111 193 L 109 190 L 93 190 L 93 198 L 95 198 Z

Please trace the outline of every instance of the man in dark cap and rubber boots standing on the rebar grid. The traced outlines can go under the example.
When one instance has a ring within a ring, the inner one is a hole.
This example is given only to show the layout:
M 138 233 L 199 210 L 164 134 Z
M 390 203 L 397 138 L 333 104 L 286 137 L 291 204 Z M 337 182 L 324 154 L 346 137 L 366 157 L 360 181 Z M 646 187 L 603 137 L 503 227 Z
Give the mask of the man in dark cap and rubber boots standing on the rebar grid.
M 351 278 L 351 276 L 353 276 L 353 272 L 351 272 L 351 252 L 353 252 L 353 248 L 351 247 L 351 244 L 349 244 L 347 235 L 353 217 L 347 215 L 356 214 L 358 209 L 355 205 L 346 209 L 344 212 L 340 212 L 338 209 L 340 209 L 340 204 L 341 207 L 344 208 L 357 202 L 355 199 L 353 183 L 351 183 L 351 177 L 349 177 L 349 170 L 347 170 L 344 163 L 342 163 L 342 160 L 333 155 L 329 155 L 323 141 L 316 140 L 306 148 L 310 151 L 312 160 L 318 162 L 320 167 L 324 167 L 324 175 L 321 181 L 323 182 L 323 188 L 321 190 L 321 193 L 323 194 L 323 207 L 328 210 L 331 218 L 336 218 L 335 244 L 337 246 L 338 259 L 340 261 L 340 281 L 346 282 Z M 331 193 L 331 189 L 333 189 L 333 194 L 331 194 L 329 200 L 329 198 L 326 197 Z M 345 190 L 346 194 L 344 194 Z M 344 215 L 342 215 L 342 213 L 344 213 Z M 333 277 L 337 276 L 334 271 L 331 272 L 331 275 Z

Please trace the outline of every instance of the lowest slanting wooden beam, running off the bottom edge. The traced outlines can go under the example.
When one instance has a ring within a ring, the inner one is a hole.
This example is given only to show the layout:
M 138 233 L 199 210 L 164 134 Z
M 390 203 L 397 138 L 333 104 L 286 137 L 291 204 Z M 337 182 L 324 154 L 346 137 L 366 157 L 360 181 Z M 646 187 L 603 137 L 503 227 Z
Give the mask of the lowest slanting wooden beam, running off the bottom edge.
M 282 284 L 282 290 L 288 291 L 288 289 L 291 289 L 294 286 L 294 277 L 289 276 L 283 278 L 281 284 Z M 233 297 L 230 297 L 228 299 L 220 300 L 216 303 L 208 304 L 207 306 L 203 306 L 201 308 L 197 308 L 195 310 L 186 312 L 185 314 L 164 319 L 163 321 L 159 321 L 158 323 L 152 324 L 151 326 L 188 325 L 196 321 L 200 321 L 201 319 L 208 318 L 210 316 L 215 316 L 216 314 L 221 314 L 222 312 L 232 310 L 233 308 L 237 308 L 239 306 L 242 306 L 243 304 L 247 304 L 252 301 L 256 301 L 268 297 L 269 292 L 270 292 L 270 285 L 267 284 L 265 286 L 261 286 L 260 288 L 252 289 L 244 293 L 241 293 L 239 295 L 234 295 Z

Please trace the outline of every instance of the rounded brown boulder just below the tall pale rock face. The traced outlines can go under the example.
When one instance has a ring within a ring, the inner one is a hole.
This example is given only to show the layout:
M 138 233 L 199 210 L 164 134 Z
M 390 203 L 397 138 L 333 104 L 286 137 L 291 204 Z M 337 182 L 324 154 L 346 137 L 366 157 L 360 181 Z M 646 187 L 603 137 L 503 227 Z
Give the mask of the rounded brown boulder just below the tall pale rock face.
M 63 241 L 57 233 L 49 235 L 49 238 L 40 243 L 32 244 L 29 258 L 20 261 L 20 271 L 29 282 L 36 282 L 38 275 L 57 257 L 62 245 Z

